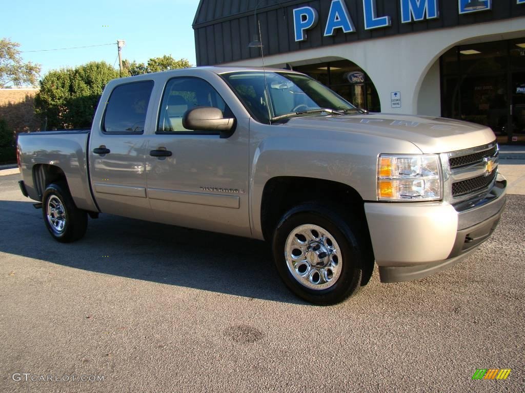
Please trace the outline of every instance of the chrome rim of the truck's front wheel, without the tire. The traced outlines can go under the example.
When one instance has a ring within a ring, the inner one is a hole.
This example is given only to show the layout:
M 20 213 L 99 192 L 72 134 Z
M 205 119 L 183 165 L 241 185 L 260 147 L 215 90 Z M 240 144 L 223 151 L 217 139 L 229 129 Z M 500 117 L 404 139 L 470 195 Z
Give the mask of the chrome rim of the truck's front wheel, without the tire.
M 341 276 L 343 256 L 339 244 L 318 225 L 303 224 L 291 231 L 285 258 L 293 278 L 310 289 L 330 288 Z

